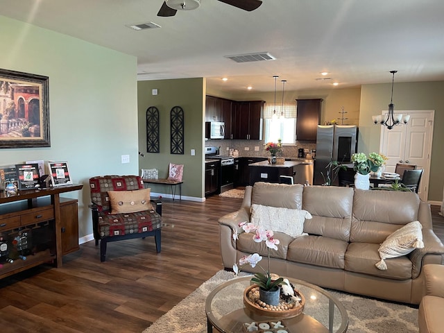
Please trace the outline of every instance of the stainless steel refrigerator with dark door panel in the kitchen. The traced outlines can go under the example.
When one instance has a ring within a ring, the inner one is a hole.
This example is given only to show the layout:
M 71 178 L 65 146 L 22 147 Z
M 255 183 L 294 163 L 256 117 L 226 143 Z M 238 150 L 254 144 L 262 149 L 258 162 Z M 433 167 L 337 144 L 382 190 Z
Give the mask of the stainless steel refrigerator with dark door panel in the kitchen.
M 351 165 L 352 155 L 357 149 L 357 133 L 358 128 L 354 125 L 318 125 L 314 185 L 325 182 L 330 162 L 337 161 Z

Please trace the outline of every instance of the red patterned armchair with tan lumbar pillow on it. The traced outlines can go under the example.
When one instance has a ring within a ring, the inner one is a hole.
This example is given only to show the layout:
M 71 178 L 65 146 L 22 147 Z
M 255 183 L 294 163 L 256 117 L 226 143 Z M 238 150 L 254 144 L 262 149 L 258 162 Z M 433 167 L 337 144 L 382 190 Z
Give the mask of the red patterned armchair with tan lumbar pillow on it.
M 109 241 L 154 236 L 160 253 L 162 203 L 151 200 L 139 176 L 98 176 L 89 178 L 92 227 L 100 260 L 105 261 Z

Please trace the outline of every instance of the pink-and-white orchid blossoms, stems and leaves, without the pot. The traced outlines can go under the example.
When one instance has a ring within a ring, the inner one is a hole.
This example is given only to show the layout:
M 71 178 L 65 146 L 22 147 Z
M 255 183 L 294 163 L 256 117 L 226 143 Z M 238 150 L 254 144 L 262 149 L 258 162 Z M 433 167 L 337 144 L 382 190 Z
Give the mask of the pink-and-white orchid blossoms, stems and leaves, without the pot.
M 250 265 L 252 268 L 255 268 L 256 265 L 259 266 L 259 268 L 261 268 L 264 273 L 255 273 L 255 277 L 252 278 L 251 281 L 266 291 L 277 289 L 279 284 L 285 282 L 283 282 L 283 278 L 272 280 L 273 274 L 270 273 L 270 250 L 278 250 L 278 244 L 280 243 L 279 239 L 273 238 L 274 234 L 272 230 L 264 230 L 264 228 L 257 227 L 253 223 L 242 222 L 239 223 L 239 227 L 241 227 L 244 232 L 254 232 L 253 240 L 256 243 L 265 241 L 268 250 L 268 270 L 265 270 L 262 266 L 258 264 L 262 260 L 262 256 L 260 256 L 259 253 L 253 253 L 252 255 L 241 257 L 241 259 L 239 259 L 239 266 L 243 267 L 246 265 Z M 237 232 L 233 234 L 233 239 L 239 239 Z M 239 266 L 236 263 L 233 265 L 233 271 L 235 275 L 239 274 Z

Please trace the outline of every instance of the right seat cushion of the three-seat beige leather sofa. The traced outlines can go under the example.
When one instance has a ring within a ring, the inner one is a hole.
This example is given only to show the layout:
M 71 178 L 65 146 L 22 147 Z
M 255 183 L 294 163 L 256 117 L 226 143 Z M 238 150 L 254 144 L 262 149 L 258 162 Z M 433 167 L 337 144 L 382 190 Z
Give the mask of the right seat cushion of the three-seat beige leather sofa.
M 388 269 L 381 271 L 375 264 L 379 261 L 379 244 L 350 243 L 345 253 L 345 271 L 389 278 L 407 280 L 411 278 L 411 260 L 407 256 L 391 259 Z

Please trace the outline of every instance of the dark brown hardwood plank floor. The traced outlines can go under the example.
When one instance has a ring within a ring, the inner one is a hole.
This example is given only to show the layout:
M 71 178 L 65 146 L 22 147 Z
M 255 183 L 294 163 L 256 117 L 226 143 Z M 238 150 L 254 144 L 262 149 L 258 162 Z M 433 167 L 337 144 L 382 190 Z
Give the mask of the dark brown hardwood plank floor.
M 63 259 L 0 280 L 1 332 L 142 332 L 223 268 L 217 219 L 241 199 L 164 199 L 162 252 L 153 237 L 108 244 L 106 262 L 90 241 Z M 433 206 L 444 240 L 444 217 Z

